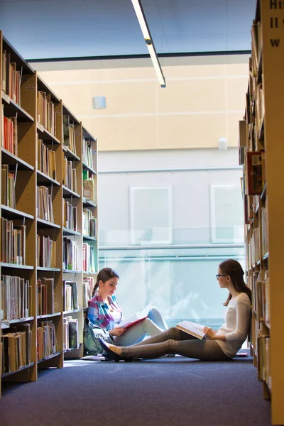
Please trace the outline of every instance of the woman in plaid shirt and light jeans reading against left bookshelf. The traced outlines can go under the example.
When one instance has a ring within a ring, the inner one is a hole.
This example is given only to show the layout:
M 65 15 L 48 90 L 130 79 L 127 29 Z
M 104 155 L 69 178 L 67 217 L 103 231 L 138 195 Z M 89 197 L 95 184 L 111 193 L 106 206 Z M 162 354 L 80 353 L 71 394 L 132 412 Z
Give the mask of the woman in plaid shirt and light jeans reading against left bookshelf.
M 146 319 L 131 327 L 121 327 L 123 315 L 114 292 L 119 283 L 119 274 L 111 268 L 103 268 L 97 274 L 92 299 L 89 300 L 84 327 L 84 351 L 89 355 L 102 353 L 99 337 L 118 346 L 141 342 L 146 334 L 155 336 L 168 329 L 156 307 L 149 308 Z M 121 324 L 121 325 L 120 325 Z

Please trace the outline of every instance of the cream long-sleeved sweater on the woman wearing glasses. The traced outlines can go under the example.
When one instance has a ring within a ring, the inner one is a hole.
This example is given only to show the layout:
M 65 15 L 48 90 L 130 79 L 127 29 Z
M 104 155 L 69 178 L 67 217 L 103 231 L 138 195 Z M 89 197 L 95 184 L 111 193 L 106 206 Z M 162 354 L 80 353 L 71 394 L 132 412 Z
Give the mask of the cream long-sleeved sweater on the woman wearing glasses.
M 226 356 L 235 356 L 249 334 L 251 323 L 251 301 L 246 293 L 231 298 L 225 313 L 225 322 L 219 328 L 226 341 L 216 340 Z

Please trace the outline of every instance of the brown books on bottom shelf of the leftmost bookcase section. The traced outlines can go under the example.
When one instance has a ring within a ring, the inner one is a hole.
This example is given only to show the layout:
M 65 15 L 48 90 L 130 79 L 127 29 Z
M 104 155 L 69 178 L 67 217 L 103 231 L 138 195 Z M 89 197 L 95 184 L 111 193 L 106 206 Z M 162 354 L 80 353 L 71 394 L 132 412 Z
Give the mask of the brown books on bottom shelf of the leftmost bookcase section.
M 2 373 L 18 371 L 31 364 L 30 324 L 16 324 L 10 332 L 4 332 L 2 342 Z

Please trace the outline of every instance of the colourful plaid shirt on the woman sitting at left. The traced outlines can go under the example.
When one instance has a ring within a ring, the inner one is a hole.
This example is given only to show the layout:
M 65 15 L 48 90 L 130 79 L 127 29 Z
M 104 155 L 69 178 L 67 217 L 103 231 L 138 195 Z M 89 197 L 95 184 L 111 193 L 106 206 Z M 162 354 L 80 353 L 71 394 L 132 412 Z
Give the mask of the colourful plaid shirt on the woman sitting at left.
M 114 317 L 112 317 L 109 312 L 109 306 L 104 302 L 102 296 L 97 292 L 91 300 L 89 300 L 89 309 L 88 309 L 88 318 L 92 324 L 97 325 L 98 327 L 109 330 L 116 327 L 119 322 L 122 321 L 122 312 L 121 307 L 119 306 L 119 302 L 117 302 L 115 296 L 109 296 L 109 303 L 116 311 L 120 312 L 119 321 L 114 321 Z

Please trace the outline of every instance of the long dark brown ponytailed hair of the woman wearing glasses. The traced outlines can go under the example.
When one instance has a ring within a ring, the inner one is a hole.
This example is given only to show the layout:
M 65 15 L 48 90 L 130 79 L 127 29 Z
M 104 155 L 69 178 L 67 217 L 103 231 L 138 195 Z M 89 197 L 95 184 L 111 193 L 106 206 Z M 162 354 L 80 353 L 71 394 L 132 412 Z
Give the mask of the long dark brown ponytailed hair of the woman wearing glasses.
M 234 259 L 228 259 L 219 264 L 219 268 L 222 273 L 229 275 L 231 282 L 240 293 L 246 293 L 251 300 L 251 289 L 244 282 L 244 271 L 241 267 L 241 264 Z M 224 306 L 227 306 L 231 300 L 231 293 L 229 293 L 226 302 L 223 303 Z

